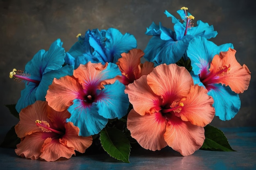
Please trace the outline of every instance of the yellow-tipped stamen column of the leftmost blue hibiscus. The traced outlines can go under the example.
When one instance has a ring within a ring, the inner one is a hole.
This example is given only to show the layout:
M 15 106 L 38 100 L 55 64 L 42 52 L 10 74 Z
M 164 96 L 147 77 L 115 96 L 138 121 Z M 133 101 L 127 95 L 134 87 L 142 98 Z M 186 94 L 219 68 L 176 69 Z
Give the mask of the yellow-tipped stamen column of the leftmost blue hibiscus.
M 40 81 L 38 81 L 38 80 L 31 79 L 29 73 L 26 73 L 26 72 L 21 71 L 21 70 L 17 71 L 15 68 L 13 68 L 13 70 L 10 72 L 9 77 L 13 78 L 16 81 L 20 81 L 20 82 L 25 81 L 25 82 L 27 82 L 27 84 L 29 82 L 33 82 L 35 84 L 40 83 Z

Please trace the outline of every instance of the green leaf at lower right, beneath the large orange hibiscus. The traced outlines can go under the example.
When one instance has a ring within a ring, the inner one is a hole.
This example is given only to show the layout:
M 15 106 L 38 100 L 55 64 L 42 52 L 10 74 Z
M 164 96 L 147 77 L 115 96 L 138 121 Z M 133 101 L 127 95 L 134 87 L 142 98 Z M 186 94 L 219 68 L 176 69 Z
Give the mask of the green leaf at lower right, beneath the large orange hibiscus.
M 200 149 L 215 151 L 236 151 L 231 148 L 224 133 L 211 125 L 204 127 L 205 140 Z

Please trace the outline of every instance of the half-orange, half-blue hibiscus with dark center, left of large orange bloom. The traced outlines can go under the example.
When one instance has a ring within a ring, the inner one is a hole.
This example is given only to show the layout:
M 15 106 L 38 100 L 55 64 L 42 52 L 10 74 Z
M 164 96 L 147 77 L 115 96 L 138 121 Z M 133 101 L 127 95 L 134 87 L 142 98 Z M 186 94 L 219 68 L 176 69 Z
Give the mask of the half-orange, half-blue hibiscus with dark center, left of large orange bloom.
M 47 91 L 46 101 L 57 111 L 71 113 L 68 122 L 80 128 L 79 135 L 99 133 L 108 119 L 120 119 L 127 114 L 128 96 L 125 86 L 115 77 L 121 75 L 114 63 L 80 65 L 73 76 L 54 79 Z

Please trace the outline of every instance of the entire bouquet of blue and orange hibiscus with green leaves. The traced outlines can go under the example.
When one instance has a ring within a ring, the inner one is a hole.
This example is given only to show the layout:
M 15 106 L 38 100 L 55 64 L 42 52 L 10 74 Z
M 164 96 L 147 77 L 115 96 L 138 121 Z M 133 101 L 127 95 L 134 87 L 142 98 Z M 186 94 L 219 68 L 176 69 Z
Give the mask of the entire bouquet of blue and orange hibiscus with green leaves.
M 7 105 L 20 121 L 2 146 L 45 161 L 94 148 L 129 162 L 133 144 L 152 151 L 168 146 L 183 156 L 234 151 L 209 124 L 238 113 L 238 94 L 251 73 L 237 62 L 232 44 L 209 41 L 217 31 L 200 20 L 195 26 L 187 10 L 177 11 L 182 20 L 164 12 L 174 30 L 153 22 L 144 51 L 129 33 L 93 29 L 67 52 L 58 39 L 24 71 L 14 68 L 9 77 L 26 84 L 17 104 Z

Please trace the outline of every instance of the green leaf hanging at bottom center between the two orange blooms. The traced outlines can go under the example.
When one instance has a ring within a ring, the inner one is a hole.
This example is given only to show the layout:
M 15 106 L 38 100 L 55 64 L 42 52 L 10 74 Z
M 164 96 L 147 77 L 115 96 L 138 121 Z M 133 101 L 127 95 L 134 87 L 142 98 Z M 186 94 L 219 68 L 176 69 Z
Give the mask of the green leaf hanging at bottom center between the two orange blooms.
M 130 142 L 121 130 L 117 128 L 104 128 L 100 132 L 103 149 L 115 159 L 129 162 Z

